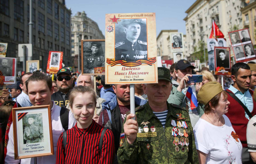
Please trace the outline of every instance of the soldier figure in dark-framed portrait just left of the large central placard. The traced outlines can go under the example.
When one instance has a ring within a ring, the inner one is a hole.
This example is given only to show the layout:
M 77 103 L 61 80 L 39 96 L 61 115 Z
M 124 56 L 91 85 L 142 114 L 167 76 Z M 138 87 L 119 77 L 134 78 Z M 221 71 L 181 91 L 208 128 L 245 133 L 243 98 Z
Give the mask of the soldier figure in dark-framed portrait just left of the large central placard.
M 83 58 L 84 73 L 94 73 L 95 67 L 105 67 L 105 56 L 99 54 L 101 43 L 91 42 L 91 53 L 85 54 Z

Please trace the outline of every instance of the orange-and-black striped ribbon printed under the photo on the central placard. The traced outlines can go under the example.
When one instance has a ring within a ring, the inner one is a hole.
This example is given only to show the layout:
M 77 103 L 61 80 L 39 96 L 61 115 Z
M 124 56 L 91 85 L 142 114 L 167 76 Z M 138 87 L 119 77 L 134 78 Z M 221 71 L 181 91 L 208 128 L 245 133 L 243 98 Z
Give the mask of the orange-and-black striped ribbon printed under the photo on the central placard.
M 136 67 L 140 66 L 142 64 L 147 64 L 152 66 L 153 63 L 157 62 L 156 57 L 154 58 L 148 58 L 148 60 L 137 60 L 136 62 L 127 62 L 125 60 L 115 60 L 115 59 L 109 59 L 107 58 L 107 63 L 113 67 L 114 65 L 121 64 L 122 66 L 126 67 Z

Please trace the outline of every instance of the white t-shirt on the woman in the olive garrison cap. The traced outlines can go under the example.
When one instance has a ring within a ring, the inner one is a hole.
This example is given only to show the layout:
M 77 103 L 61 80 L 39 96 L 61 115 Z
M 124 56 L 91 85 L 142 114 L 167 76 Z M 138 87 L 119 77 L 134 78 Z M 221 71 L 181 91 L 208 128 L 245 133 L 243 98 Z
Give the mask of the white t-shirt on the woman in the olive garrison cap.
M 225 125 L 215 126 L 200 118 L 193 128 L 196 149 L 206 153 L 206 164 L 242 164 L 242 144 L 231 135 L 235 132 L 227 116 Z

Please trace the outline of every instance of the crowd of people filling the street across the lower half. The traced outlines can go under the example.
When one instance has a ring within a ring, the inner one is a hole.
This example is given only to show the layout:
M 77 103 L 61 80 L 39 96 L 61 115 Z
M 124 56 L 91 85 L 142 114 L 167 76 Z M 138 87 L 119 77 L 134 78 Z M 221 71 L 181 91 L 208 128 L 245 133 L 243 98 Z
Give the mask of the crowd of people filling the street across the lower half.
M 15 101 L 50 105 L 54 155 L 36 157 L 38 164 L 256 163 L 256 63 L 234 64 L 224 86 L 206 67 L 194 69 L 182 59 L 170 69 L 158 67 L 158 83 L 135 84 L 135 114 L 130 85 L 105 84 L 105 75 L 95 81 L 64 68 L 52 80 L 40 71 L 25 73 L 15 88 L 0 91 L 0 163 L 34 163 L 14 159 L 8 118 Z M 189 83 L 192 74 L 202 82 Z

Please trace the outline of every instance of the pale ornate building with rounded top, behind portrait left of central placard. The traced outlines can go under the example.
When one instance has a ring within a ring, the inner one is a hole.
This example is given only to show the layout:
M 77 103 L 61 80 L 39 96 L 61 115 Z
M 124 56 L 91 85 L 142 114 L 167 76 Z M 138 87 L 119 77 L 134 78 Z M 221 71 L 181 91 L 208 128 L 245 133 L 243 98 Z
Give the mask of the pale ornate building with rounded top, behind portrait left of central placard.
M 86 13 L 77 12 L 71 17 L 71 47 L 72 58 L 74 60 L 74 69 L 78 71 L 78 55 L 80 57 L 81 67 L 81 40 L 82 39 L 105 39 L 105 36 L 99 30 L 98 24 L 87 17 Z

